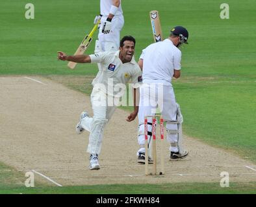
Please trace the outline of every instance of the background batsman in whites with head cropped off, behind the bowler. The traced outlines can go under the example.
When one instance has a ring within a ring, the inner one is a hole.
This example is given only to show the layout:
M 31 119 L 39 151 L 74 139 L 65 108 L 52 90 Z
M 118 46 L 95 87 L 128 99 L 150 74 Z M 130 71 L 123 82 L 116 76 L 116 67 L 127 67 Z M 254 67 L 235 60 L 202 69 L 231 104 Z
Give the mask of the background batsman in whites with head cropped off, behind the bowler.
M 101 23 L 94 52 L 118 50 L 124 24 L 121 0 L 100 0 L 100 15 L 95 17 L 94 23 L 98 19 Z

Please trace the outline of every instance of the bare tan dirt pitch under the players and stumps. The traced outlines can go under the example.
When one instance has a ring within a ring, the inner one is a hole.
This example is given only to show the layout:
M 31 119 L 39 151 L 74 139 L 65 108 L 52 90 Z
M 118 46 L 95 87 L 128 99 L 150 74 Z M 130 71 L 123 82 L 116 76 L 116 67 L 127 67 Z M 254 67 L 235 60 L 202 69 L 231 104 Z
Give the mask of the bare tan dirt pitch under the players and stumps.
M 64 186 L 154 184 L 220 182 L 220 173 L 227 171 L 230 182 L 256 181 L 256 167 L 250 161 L 188 137 L 184 138 L 188 158 L 170 162 L 166 142 L 165 175 L 146 177 L 144 166 L 136 162 L 137 122 L 126 122 L 128 113 L 120 109 L 105 129 L 101 169 L 90 171 L 89 134 L 75 133 L 81 111 L 92 114 L 88 96 L 42 77 L 1 77 L 0 87 L 0 160 L 23 170 L 24 176 L 34 170 Z

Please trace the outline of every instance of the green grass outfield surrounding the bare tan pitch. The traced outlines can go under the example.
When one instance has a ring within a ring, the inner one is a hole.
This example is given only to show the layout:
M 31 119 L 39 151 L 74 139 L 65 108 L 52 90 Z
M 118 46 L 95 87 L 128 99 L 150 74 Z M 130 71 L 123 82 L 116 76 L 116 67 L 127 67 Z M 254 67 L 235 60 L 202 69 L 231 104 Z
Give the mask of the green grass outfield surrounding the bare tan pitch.
M 31 0 L 35 19 L 30 20 L 24 16 L 26 3 L 24 0 L 1 3 L 0 75 L 35 74 L 57 80 L 66 77 L 68 82 L 63 81 L 64 84 L 89 94 L 89 83 L 86 86 L 77 83 L 77 77 L 91 80 L 97 73 L 97 66 L 78 65 L 71 71 L 66 63 L 57 61 L 57 51 L 75 52 L 84 33 L 92 28 L 94 17 L 99 13 L 99 1 Z M 219 0 L 183 0 L 175 4 L 164 0 L 123 1 L 122 36 L 130 34 L 136 38 L 135 58 L 138 60 L 141 50 L 153 41 L 150 10 L 159 10 L 165 37 L 173 26 L 185 26 L 190 32 L 189 45 L 182 49 L 182 77 L 173 81 L 173 87 L 185 118 L 186 135 L 256 163 L 256 2 L 225 1 L 229 4 L 230 19 L 220 19 L 222 3 Z M 88 54 L 93 51 L 94 44 Z M 14 186 L 7 183 L 1 179 L 0 193 L 23 191 L 16 181 L 10 182 Z M 218 184 L 181 184 L 179 192 L 253 193 L 253 184 L 243 186 L 240 188 L 241 184 L 237 184 L 237 188 L 224 191 Z M 150 187 L 127 186 L 127 189 L 134 188 L 137 193 Z M 101 188 L 110 186 L 95 186 L 95 191 L 86 193 L 104 193 Z M 170 186 L 159 186 L 159 193 L 162 188 L 170 189 Z M 205 191 L 205 188 L 211 190 Z M 120 187 L 119 192 L 127 193 L 124 189 Z M 84 187 L 27 192 L 81 193 Z

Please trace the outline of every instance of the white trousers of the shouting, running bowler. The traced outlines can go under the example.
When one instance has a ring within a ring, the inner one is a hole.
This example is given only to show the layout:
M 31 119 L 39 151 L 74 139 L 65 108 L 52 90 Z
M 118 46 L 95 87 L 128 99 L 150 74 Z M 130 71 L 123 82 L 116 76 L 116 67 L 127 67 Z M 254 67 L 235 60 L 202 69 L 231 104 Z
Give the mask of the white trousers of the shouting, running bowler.
M 82 127 L 90 132 L 87 147 L 87 152 L 90 154 L 100 154 L 104 127 L 116 110 L 116 106 L 109 106 L 107 98 L 107 94 L 94 88 L 91 94 L 94 116 L 86 116 L 81 122 Z

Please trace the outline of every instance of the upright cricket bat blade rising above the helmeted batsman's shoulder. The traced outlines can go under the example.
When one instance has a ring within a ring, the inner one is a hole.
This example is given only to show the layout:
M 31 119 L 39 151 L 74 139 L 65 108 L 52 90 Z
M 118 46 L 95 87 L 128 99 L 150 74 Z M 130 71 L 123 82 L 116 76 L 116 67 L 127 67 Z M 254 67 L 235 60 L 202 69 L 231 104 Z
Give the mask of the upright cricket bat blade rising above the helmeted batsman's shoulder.
M 151 26 L 153 30 L 153 38 L 154 41 L 162 41 L 164 37 L 162 36 L 162 28 L 160 25 L 159 12 L 157 10 L 153 10 L 149 12 Z

